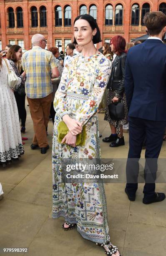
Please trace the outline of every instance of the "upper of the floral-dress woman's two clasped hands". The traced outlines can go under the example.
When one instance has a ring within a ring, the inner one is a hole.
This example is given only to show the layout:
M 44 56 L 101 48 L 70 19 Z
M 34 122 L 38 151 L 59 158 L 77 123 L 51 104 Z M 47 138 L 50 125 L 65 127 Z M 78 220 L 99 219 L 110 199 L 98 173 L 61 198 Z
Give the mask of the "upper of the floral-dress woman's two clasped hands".
M 80 122 L 74 120 L 73 118 L 70 118 L 69 115 L 63 115 L 62 119 L 65 122 L 65 124 L 67 125 L 68 130 L 70 131 L 70 133 L 72 135 L 77 135 L 82 132 L 83 127 Z

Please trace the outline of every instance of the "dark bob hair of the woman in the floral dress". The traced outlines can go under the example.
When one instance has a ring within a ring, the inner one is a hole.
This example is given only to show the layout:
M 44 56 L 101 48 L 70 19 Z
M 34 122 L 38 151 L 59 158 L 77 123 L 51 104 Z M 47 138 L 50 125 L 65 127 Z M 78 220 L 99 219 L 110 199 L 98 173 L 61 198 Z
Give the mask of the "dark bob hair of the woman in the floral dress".
M 83 14 L 83 15 L 79 15 L 79 16 L 77 16 L 77 18 L 75 18 L 74 24 L 75 24 L 75 21 L 80 20 L 80 19 L 88 21 L 92 30 L 94 30 L 95 28 L 97 29 L 96 35 L 93 36 L 93 40 L 92 40 L 93 44 L 98 44 L 99 42 L 102 42 L 100 29 L 98 27 L 96 20 L 89 14 Z M 77 44 L 77 41 L 75 38 L 74 38 L 73 44 Z

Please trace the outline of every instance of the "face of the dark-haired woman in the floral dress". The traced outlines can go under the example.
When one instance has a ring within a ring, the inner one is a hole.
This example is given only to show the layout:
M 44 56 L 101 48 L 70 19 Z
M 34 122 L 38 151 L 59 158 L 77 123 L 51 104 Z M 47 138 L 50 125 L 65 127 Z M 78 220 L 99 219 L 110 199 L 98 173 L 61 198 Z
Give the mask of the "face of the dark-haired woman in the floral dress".
M 97 33 L 97 29 L 92 30 L 87 20 L 76 20 L 74 24 L 74 37 L 78 45 L 86 46 L 91 43 L 93 36 Z

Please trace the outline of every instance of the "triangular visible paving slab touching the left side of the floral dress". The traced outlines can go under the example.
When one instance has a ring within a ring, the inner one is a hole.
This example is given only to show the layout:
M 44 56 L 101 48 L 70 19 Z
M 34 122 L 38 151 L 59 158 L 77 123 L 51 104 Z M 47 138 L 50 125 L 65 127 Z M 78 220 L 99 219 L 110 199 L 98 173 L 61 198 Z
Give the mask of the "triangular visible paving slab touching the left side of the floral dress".
M 51 207 L 52 164 L 50 154 L 8 195 L 8 199 Z

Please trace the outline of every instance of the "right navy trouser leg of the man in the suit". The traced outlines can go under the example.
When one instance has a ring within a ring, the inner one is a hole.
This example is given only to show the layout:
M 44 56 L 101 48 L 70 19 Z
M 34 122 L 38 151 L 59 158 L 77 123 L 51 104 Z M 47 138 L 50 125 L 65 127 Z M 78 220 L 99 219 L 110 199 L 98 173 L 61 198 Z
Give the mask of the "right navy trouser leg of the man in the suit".
M 146 120 L 146 164 L 144 168 L 144 199 L 155 197 L 157 160 L 163 143 L 165 122 Z

